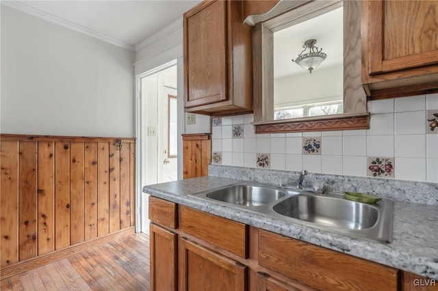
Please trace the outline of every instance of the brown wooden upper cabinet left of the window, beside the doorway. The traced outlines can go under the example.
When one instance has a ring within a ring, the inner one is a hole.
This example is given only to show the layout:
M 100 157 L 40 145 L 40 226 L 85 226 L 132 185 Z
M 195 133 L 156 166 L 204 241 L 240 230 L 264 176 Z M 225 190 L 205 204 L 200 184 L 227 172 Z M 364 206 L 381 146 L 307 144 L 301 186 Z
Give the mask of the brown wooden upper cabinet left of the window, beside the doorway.
M 253 110 L 252 29 L 242 22 L 242 1 L 203 1 L 185 12 L 186 112 Z

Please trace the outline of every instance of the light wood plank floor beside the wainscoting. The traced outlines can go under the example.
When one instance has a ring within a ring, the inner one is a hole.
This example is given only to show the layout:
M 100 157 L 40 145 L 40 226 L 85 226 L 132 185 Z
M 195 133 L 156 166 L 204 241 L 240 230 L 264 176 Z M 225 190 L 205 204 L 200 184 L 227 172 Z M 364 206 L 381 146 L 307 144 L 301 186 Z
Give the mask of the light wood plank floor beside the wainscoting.
M 149 290 L 149 236 L 133 234 L 1 280 L 0 290 Z

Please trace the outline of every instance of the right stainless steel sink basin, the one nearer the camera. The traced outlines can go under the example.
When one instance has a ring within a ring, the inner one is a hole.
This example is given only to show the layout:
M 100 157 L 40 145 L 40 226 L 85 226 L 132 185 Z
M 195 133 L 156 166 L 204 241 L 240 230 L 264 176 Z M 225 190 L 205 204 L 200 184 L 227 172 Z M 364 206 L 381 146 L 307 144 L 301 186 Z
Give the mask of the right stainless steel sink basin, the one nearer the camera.
M 370 204 L 317 195 L 289 197 L 273 209 L 294 219 L 348 230 L 370 228 L 378 219 L 378 209 Z

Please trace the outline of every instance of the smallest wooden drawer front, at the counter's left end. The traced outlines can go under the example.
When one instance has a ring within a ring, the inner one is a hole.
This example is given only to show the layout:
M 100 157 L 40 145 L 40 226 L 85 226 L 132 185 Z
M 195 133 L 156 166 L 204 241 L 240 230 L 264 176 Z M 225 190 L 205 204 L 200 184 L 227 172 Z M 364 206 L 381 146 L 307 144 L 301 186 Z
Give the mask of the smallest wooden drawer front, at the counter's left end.
M 149 196 L 149 219 L 170 228 L 178 228 L 177 204 Z

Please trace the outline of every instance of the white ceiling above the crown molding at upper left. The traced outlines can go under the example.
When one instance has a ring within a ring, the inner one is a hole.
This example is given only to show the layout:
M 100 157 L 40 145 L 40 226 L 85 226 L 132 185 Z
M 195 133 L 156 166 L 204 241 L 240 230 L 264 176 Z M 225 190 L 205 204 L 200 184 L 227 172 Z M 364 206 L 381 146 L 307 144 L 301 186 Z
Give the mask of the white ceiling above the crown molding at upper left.
M 133 48 L 171 23 L 177 20 L 181 20 L 182 23 L 183 13 L 201 1 L 60 0 L 14 2 L 22 8 L 31 9 L 33 14 L 40 12 L 42 18 L 54 16 L 57 20 L 65 20 L 66 23 L 79 25 Z

